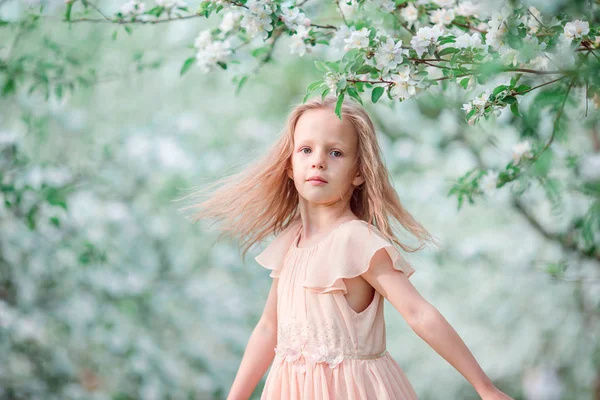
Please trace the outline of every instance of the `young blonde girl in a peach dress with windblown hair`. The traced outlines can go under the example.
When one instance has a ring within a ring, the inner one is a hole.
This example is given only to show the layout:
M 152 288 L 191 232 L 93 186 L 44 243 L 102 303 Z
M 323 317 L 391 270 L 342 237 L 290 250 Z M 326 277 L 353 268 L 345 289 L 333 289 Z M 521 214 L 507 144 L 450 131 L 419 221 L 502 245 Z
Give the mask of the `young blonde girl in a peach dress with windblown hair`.
M 273 282 L 228 399 L 248 399 L 269 366 L 261 399 L 416 399 L 386 350 L 383 298 L 482 399 L 510 399 L 409 282 L 414 269 L 390 240 L 406 251 L 435 240 L 403 208 L 368 114 L 346 102 L 340 121 L 335 102 L 296 106 L 262 161 L 193 206 L 204 208 L 193 219 L 249 235 L 243 256 L 278 233 L 256 257 Z M 400 243 L 390 218 L 421 245 Z

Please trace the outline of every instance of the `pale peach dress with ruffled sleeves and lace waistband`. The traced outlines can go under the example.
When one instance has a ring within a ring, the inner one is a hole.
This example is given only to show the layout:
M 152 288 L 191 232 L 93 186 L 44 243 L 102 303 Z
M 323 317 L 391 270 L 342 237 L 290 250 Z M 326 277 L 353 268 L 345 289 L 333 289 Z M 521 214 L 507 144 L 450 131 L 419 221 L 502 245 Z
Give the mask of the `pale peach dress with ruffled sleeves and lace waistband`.
M 414 268 L 366 221 L 343 222 L 307 248 L 297 246 L 301 229 L 297 218 L 255 258 L 279 278 L 277 347 L 261 400 L 417 399 L 386 351 L 382 296 L 375 291 L 360 313 L 344 297 L 344 278 L 366 272 L 381 248 L 408 277 Z

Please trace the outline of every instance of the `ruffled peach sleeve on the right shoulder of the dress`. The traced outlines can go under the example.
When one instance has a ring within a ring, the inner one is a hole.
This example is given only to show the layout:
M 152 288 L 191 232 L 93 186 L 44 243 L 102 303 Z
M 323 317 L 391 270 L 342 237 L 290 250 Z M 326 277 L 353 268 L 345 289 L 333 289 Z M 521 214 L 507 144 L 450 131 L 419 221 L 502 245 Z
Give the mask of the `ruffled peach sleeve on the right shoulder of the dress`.
M 335 232 L 329 246 L 321 249 L 307 273 L 304 287 L 319 293 L 341 290 L 346 294 L 344 279 L 367 272 L 371 258 L 381 248 L 387 251 L 395 269 L 404 272 L 407 277 L 415 272 L 400 251 L 375 226 L 354 220 L 343 224 Z

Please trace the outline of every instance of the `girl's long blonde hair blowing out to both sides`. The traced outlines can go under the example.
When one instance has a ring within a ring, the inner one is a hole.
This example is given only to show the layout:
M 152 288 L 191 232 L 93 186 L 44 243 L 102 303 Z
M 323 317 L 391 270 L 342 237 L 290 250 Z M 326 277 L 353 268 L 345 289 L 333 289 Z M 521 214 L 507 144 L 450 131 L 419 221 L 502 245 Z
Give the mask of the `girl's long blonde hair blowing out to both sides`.
M 242 258 L 256 242 L 268 235 L 279 234 L 298 216 L 298 192 L 294 181 L 287 175 L 291 168 L 294 151 L 294 130 L 300 117 L 308 110 L 321 108 L 335 109 L 337 99 L 328 96 L 312 99 L 293 107 L 288 115 L 286 126 L 280 138 L 269 152 L 254 165 L 242 172 L 217 180 L 189 196 L 203 196 L 215 186 L 208 199 L 184 207 L 180 210 L 200 208 L 201 211 L 189 219 L 197 222 L 203 218 L 216 218 L 223 221 L 222 231 L 217 238 L 230 234 L 238 237 L 243 247 Z M 397 243 L 408 252 L 420 250 L 429 240 L 435 239 L 404 209 L 394 190 L 387 168 L 381 158 L 381 150 L 375 135 L 375 127 L 367 112 L 356 102 L 345 101 L 341 115 L 348 118 L 358 135 L 356 168 L 365 182 L 356 187 L 350 199 L 350 209 L 361 220 L 375 226 L 384 236 Z M 420 246 L 412 248 L 401 243 L 394 235 L 388 218 L 397 220 L 406 230 L 419 240 Z

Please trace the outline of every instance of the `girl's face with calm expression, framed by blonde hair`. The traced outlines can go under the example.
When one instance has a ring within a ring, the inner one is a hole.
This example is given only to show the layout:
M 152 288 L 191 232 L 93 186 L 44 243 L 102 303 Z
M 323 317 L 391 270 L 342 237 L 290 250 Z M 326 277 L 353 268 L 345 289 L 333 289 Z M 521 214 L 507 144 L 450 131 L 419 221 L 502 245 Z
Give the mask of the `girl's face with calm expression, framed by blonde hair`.
M 328 205 L 349 199 L 364 179 L 355 171 L 358 137 L 349 118 L 328 108 L 308 110 L 296 123 L 292 169 L 288 176 L 301 198 Z M 311 181 L 318 176 L 325 183 Z

